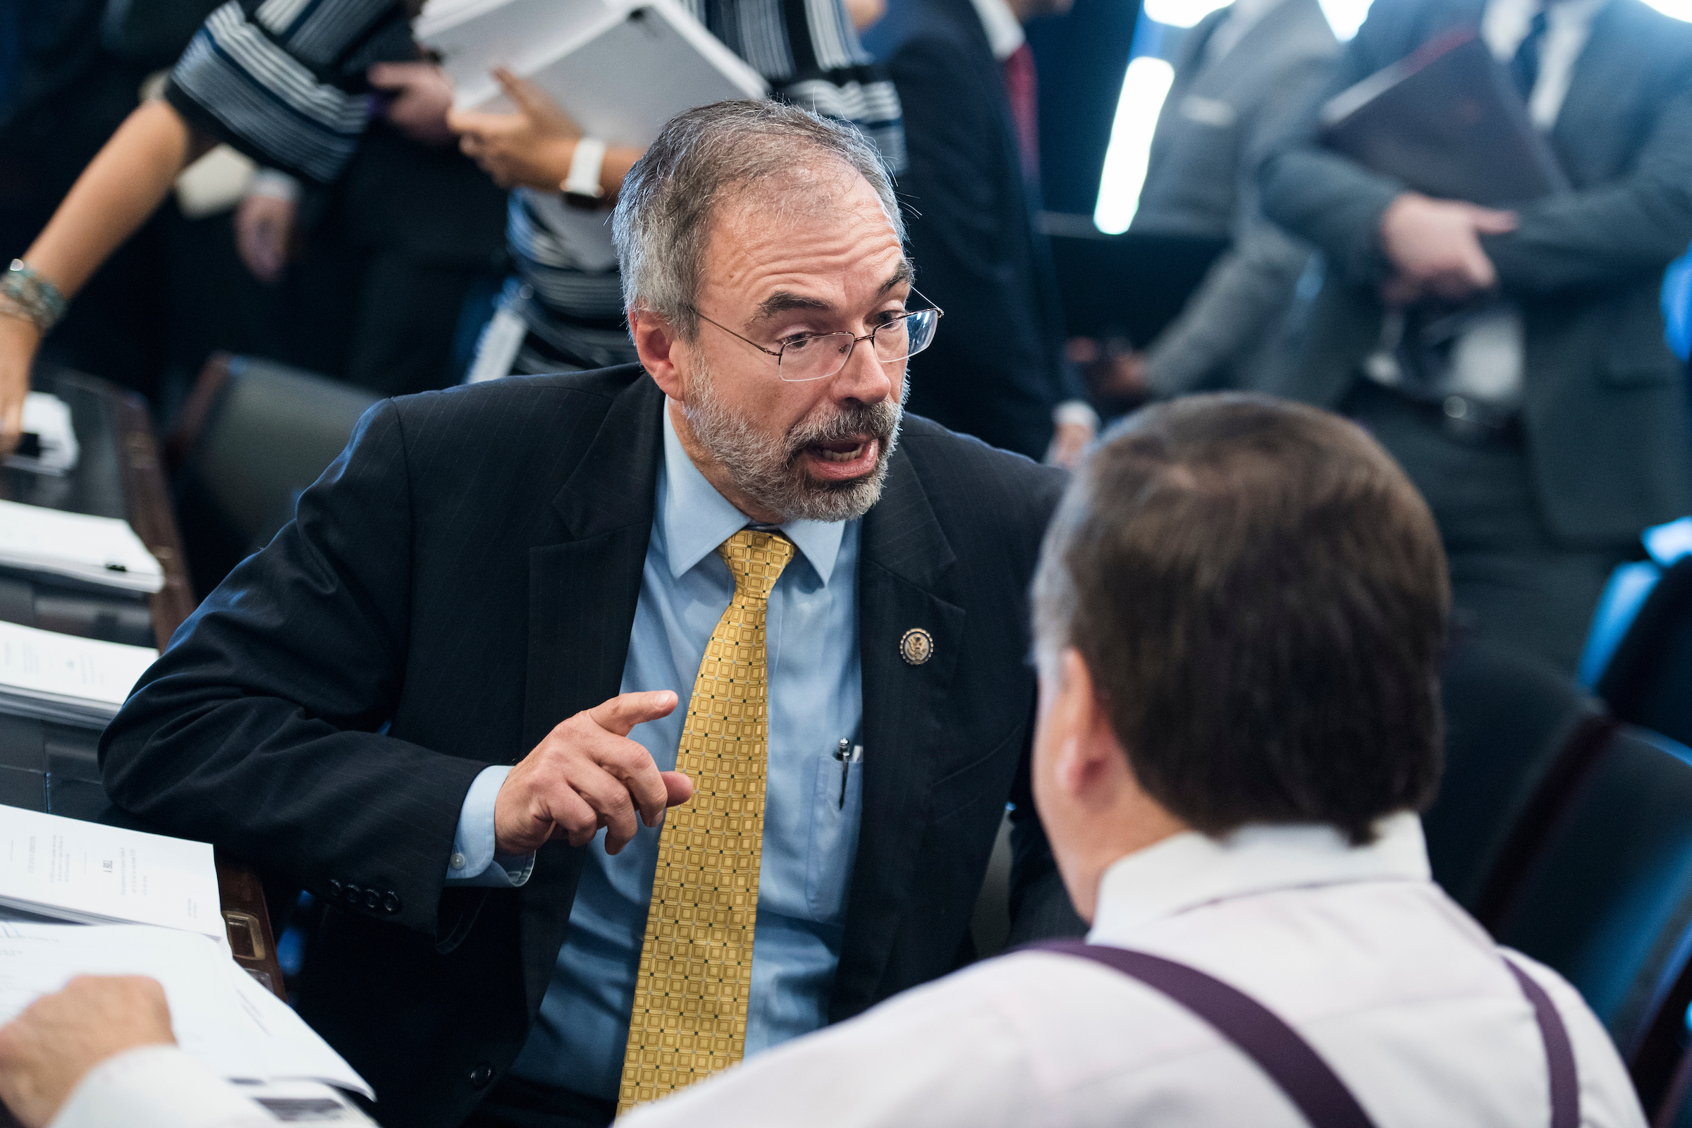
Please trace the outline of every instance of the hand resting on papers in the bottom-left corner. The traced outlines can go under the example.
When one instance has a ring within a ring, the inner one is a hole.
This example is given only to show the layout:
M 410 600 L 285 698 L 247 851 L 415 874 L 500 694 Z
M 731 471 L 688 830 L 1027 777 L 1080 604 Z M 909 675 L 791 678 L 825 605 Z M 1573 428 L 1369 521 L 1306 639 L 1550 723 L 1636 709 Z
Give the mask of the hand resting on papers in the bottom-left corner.
M 174 1042 L 157 979 L 78 976 L 0 1028 L 0 1101 L 24 1128 L 42 1128 L 105 1059 Z

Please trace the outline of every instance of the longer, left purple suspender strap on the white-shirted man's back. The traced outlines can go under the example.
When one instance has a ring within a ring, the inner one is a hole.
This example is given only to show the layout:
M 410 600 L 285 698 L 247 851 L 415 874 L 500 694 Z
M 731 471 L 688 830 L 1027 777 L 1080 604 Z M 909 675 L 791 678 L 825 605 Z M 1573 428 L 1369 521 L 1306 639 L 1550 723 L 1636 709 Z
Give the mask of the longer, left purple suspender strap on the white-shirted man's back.
M 1193 1011 L 1269 1074 L 1311 1128 L 1374 1128 L 1352 1091 L 1305 1038 L 1262 1003 L 1173 959 L 1081 940 L 1049 940 L 1034 950 L 1079 956 L 1115 967 Z

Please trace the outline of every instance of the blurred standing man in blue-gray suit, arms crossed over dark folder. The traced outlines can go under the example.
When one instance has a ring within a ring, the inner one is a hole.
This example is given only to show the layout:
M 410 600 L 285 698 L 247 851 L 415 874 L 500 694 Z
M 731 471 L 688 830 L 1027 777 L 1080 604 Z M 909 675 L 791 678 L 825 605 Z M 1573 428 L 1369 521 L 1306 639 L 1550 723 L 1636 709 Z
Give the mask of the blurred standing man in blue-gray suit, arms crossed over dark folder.
M 1508 211 L 1430 200 L 1321 145 L 1321 101 L 1453 27 L 1508 68 L 1572 193 Z M 1692 511 L 1658 304 L 1692 238 L 1692 25 L 1640 0 L 1379 0 L 1259 188 L 1325 257 L 1274 391 L 1349 411 L 1404 463 L 1460 626 L 1574 670 L 1611 568 Z M 1399 338 L 1421 303 L 1477 298 L 1492 301 L 1445 345 Z

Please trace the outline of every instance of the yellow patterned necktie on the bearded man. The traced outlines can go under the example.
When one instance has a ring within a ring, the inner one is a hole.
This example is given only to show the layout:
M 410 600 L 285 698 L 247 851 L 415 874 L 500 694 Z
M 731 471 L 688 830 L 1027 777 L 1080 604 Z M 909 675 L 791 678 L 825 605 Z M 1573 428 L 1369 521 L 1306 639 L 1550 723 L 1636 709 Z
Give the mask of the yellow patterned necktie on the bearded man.
M 746 1052 L 770 749 L 763 619 L 794 545 L 741 529 L 717 555 L 734 573 L 734 597 L 706 644 L 682 726 L 675 768 L 692 778 L 694 798 L 658 834 L 619 1114 Z

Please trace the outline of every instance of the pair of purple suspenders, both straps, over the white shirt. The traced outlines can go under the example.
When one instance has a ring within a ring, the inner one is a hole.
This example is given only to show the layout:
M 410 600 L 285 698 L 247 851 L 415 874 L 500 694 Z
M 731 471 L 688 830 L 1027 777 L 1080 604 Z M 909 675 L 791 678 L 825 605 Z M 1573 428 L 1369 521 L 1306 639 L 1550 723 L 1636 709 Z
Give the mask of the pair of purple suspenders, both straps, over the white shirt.
M 1130 979 L 1167 994 L 1257 1062 L 1259 1069 L 1269 1074 L 1269 1079 L 1298 1106 L 1311 1128 L 1374 1128 L 1374 1121 L 1352 1091 L 1310 1049 L 1310 1043 L 1244 991 L 1173 959 L 1105 944 L 1044 940 L 1029 944 L 1024 950 L 1079 956 L 1115 967 Z M 1504 966 L 1516 976 L 1521 993 L 1533 1005 L 1533 1020 L 1545 1042 L 1545 1064 L 1552 1076 L 1552 1128 L 1580 1128 L 1580 1076 L 1575 1071 L 1568 1028 L 1563 1027 L 1552 996 L 1533 976 L 1508 956 Z

